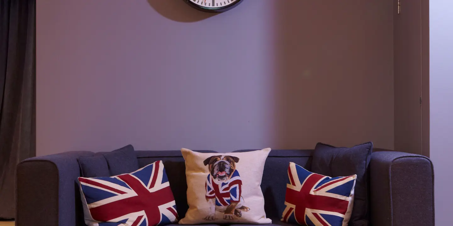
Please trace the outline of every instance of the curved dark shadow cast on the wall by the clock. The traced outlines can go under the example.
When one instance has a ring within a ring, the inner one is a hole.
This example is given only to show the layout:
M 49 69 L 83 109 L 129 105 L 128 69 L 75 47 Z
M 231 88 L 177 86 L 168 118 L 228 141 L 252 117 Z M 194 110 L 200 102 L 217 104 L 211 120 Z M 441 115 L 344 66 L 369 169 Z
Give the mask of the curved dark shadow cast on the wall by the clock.
M 162 16 L 177 22 L 197 22 L 216 15 L 193 10 L 183 0 L 148 0 L 148 4 Z

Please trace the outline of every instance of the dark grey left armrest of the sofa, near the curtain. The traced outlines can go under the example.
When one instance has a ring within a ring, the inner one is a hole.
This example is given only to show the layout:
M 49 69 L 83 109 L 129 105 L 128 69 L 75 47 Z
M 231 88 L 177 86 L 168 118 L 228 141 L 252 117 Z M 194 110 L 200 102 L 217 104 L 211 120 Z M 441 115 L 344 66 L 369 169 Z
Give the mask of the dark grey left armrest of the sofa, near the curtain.
M 26 159 L 17 165 L 16 226 L 79 226 L 83 216 L 76 179 L 77 158 L 89 151 L 71 151 Z

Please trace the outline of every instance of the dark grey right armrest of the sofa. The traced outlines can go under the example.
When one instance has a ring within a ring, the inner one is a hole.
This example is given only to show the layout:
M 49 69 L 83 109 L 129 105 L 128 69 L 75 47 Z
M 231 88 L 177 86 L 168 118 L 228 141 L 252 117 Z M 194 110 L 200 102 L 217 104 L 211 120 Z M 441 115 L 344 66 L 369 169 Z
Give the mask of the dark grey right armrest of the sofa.
M 429 158 L 374 152 L 370 176 L 372 225 L 434 226 L 434 171 Z

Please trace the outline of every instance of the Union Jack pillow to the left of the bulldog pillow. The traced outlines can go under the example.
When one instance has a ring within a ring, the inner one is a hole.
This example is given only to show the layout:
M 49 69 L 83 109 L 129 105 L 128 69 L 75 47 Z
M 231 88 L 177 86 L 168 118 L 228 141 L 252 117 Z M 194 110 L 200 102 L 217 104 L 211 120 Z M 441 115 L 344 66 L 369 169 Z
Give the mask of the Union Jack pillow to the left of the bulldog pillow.
M 79 177 L 78 181 L 89 226 L 158 226 L 178 221 L 162 161 L 130 174 Z

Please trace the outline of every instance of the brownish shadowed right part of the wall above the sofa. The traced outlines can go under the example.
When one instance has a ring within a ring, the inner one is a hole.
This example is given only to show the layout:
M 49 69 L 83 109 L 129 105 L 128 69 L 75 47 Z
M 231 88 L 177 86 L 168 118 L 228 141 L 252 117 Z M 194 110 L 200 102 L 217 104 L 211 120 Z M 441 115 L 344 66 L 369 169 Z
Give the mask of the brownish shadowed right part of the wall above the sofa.
M 272 3 L 275 147 L 373 141 L 391 149 L 391 1 Z

